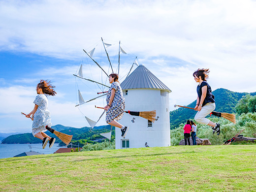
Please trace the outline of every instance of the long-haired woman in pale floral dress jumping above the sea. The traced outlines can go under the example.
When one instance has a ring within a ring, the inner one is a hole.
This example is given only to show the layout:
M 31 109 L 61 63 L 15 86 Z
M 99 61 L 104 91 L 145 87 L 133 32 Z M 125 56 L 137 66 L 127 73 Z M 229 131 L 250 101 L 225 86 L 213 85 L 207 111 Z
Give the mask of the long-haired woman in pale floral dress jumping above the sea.
M 36 93 L 38 94 L 33 103 L 34 109 L 26 115 L 30 118 L 32 115 L 32 134 L 34 137 L 42 140 L 44 149 L 49 141 L 49 148 L 51 148 L 55 142 L 55 138 L 48 136 L 44 132 L 46 131 L 46 126 L 51 127 L 51 113 L 48 110 L 48 99 L 47 96 L 55 96 L 56 92 L 53 90 L 55 86 L 50 84 L 50 81 L 41 80 L 36 86 Z

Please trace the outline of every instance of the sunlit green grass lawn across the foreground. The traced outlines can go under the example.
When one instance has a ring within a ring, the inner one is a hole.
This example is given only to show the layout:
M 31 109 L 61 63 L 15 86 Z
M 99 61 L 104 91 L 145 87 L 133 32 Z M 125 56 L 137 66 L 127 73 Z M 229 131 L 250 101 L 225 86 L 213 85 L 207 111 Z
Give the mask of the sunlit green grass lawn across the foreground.
M 174 146 L 0 159 L 0 192 L 255 192 L 256 145 Z

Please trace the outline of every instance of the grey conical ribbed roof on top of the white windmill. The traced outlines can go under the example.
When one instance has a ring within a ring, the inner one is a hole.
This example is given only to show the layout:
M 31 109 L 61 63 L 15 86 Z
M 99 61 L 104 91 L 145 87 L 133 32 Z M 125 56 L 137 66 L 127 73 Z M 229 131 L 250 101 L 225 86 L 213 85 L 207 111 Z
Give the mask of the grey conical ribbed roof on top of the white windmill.
M 171 92 L 152 72 L 144 65 L 139 65 L 122 83 L 123 90 L 128 89 L 160 89 Z

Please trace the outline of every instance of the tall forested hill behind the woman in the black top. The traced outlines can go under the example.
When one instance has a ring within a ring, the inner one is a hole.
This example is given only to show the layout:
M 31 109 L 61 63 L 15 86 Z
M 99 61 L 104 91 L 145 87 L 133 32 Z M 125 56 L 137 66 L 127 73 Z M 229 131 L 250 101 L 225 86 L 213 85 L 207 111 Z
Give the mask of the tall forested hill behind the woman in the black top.
M 215 96 L 216 109 L 218 112 L 225 113 L 235 113 L 235 106 L 237 102 L 242 98 L 242 96 L 247 95 L 248 93 L 238 93 L 232 92 L 227 89 L 217 89 L 213 91 Z M 250 93 L 252 96 L 256 95 L 256 92 Z M 188 105 L 188 107 L 194 107 L 196 100 Z M 170 112 L 170 128 L 177 128 L 181 123 L 185 123 L 188 119 L 194 119 L 194 115 L 197 111 L 192 109 L 186 109 L 180 107 L 174 111 Z

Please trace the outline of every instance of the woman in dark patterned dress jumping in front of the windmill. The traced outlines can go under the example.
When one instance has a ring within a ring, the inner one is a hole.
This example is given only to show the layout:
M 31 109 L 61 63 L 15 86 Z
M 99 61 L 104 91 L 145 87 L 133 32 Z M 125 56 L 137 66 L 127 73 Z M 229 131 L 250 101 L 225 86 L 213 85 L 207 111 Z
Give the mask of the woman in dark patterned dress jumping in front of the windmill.
M 129 127 L 125 127 L 117 122 L 123 117 L 126 106 L 123 91 L 118 82 L 118 74 L 110 74 L 109 83 L 111 83 L 111 86 L 107 93 L 107 105 L 104 107 L 106 111 L 106 123 L 121 128 L 121 137 L 125 138 Z

